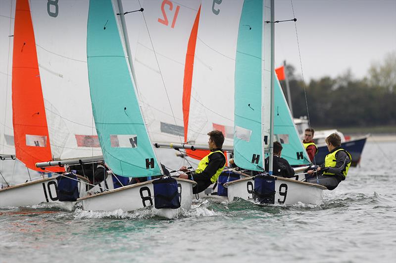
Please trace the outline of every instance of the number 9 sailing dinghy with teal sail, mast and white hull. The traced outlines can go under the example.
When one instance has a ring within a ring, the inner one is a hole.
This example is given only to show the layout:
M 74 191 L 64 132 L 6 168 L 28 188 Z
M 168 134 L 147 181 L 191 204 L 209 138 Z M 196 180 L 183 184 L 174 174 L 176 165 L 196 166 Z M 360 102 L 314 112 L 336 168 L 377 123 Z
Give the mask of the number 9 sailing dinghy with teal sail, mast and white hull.
M 263 174 L 225 183 L 224 187 L 228 189 L 230 201 L 242 198 L 270 204 L 316 203 L 322 200 L 326 187 L 272 175 L 274 137 L 283 146 L 293 139 L 274 136 L 275 86 L 280 85 L 274 74 L 273 8 L 274 0 L 244 1 L 235 70 L 234 161 L 243 169 Z M 278 106 L 277 111 L 279 115 Z M 291 119 L 291 115 L 289 117 Z M 288 134 L 298 140 L 295 127 L 294 133 Z M 295 151 L 294 156 L 307 159 L 301 142 L 299 144 L 301 151 Z M 266 152 L 269 152 L 269 173 L 263 170 Z

